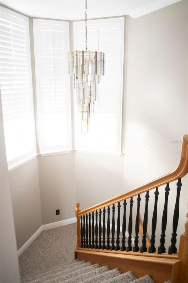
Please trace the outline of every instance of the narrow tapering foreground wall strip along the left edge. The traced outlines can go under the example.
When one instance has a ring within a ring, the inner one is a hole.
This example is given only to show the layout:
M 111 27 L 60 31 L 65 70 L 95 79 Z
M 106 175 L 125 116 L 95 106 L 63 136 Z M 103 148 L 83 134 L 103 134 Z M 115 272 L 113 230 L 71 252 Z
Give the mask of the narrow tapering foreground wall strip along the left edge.
M 2 283 L 19 283 L 20 276 L 9 185 L 9 175 L 6 162 L 1 99 L 0 153 L 0 281 Z

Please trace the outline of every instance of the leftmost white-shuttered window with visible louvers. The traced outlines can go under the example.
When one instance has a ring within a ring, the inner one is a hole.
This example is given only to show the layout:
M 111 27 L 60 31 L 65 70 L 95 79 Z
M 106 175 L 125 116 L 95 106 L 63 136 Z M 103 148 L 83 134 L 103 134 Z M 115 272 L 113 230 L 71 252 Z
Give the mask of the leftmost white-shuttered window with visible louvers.
M 1 7 L 0 89 L 9 170 L 36 156 L 28 18 Z

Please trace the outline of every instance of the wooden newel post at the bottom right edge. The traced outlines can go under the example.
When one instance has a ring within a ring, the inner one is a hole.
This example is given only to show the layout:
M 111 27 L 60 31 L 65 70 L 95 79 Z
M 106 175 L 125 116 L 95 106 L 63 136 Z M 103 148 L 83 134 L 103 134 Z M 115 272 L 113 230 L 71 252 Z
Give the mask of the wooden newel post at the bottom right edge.
M 187 213 L 188 218 L 188 213 Z M 187 283 L 188 278 L 188 219 L 185 222 L 185 232 L 180 237 L 178 259 L 181 259 L 181 268 L 179 273 L 179 282 Z

